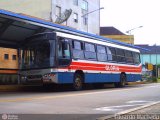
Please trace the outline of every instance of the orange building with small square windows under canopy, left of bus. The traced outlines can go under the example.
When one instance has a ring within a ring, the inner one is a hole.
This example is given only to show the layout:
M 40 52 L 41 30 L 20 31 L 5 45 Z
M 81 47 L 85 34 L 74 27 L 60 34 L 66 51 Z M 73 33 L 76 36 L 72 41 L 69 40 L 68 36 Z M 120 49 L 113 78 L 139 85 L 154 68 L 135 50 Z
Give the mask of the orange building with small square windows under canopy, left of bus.
M 16 49 L 0 47 L 0 85 L 16 84 L 18 75 L 18 53 Z

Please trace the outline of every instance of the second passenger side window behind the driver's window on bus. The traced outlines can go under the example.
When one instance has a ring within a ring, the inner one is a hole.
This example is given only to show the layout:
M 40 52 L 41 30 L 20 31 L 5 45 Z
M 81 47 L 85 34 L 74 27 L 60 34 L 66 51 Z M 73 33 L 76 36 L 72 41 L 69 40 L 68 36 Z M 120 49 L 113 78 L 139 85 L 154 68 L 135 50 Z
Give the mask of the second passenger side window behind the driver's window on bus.
M 95 45 L 90 43 L 85 43 L 85 58 L 90 60 L 96 60 Z

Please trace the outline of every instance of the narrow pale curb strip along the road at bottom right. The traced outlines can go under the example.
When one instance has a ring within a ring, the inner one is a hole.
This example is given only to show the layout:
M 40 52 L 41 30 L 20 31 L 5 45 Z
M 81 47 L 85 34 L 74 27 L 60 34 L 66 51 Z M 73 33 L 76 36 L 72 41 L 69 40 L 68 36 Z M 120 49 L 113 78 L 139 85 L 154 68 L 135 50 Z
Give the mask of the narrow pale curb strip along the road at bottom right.
M 149 103 L 149 104 L 146 104 L 146 105 L 143 105 L 143 106 L 140 106 L 140 107 L 136 107 L 136 108 L 133 108 L 133 109 L 129 109 L 129 110 L 119 112 L 119 113 L 114 114 L 114 115 L 108 115 L 108 116 L 100 117 L 100 118 L 97 118 L 96 120 L 107 120 L 107 119 L 115 118 L 115 116 L 128 114 L 128 113 L 131 113 L 131 112 L 134 112 L 134 111 L 137 111 L 137 110 L 141 110 L 141 109 L 144 109 L 144 108 L 147 108 L 147 107 L 151 107 L 151 106 L 159 104 L 159 103 L 160 103 L 160 101 Z

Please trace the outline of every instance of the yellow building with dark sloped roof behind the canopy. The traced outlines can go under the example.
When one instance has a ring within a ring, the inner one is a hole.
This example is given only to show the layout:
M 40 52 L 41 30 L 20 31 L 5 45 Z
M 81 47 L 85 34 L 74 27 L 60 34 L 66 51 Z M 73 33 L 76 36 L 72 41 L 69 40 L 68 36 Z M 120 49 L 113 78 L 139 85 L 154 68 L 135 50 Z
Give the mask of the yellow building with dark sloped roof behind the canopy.
M 134 36 L 126 35 L 115 27 L 100 27 L 100 35 L 128 44 L 134 44 Z

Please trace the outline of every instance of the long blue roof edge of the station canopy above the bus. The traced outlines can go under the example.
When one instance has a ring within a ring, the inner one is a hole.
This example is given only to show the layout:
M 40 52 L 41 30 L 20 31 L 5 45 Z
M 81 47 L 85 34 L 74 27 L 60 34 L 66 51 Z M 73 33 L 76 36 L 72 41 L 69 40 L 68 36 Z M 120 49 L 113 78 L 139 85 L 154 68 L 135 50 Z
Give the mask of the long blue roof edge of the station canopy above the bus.
M 30 24 L 30 25 L 33 25 L 33 26 L 35 26 L 35 25 L 36 26 L 41 26 L 41 27 L 49 28 L 49 29 L 52 29 L 52 30 L 55 30 L 55 31 L 78 34 L 78 35 L 81 35 L 81 36 L 95 38 L 95 39 L 99 39 L 99 40 L 102 40 L 102 41 L 106 41 L 106 42 L 110 42 L 110 43 L 114 43 L 114 44 L 119 44 L 119 45 L 122 45 L 122 46 L 132 47 L 132 48 L 135 48 L 135 49 L 147 50 L 145 48 L 141 48 L 141 47 L 134 46 L 134 45 L 131 45 L 131 44 L 123 43 L 123 42 L 120 42 L 120 41 L 117 41 L 117 40 L 112 40 L 112 39 L 105 38 L 105 37 L 102 37 L 102 36 L 98 36 L 98 35 L 95 35 L 95 34 L 91 34 L 91 33 L 83 32 L 83 31 L 80 31 L 80 30 L 76 30 L 76 29 L 73 29 L 73 28 L 70 28 L 70 27 L 67 27 L 67 26 L 62 26 L 62 25 L 55 24 L 55 23 L 52 23 L 52 22 L 49 22 L 49 21 L 45 21 L 45 20 L 42 20 L 42 19 L 26 16 L 26 15 L 23 15 L 23 14 L 13 13 L 13 12 L 6 11 L 6 10 L 0 10 L 0 18 L 2 18 L 2 19 L 5 18 L 5 19 L 8 19 L 10 21 L 13 21 L 13 20 L 14 21 L 21 21 L 21 22 L 24 22 L 26 24 Z

